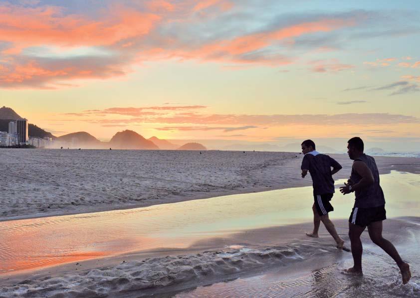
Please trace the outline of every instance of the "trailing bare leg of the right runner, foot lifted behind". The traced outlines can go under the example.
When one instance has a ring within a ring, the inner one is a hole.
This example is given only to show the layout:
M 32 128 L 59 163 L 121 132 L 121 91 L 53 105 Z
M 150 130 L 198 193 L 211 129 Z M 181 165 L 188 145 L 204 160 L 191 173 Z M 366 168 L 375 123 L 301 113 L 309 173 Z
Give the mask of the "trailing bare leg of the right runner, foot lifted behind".
M 390 241 L 382 237 L 382 220 L 372 222 L 368 226 L 368 231 L 373 243 L 382 248 L 397 263 L 403 276 L 403 284 L 407 284 L 411 279 L 410 266 L 401 259 L 395 246 Z

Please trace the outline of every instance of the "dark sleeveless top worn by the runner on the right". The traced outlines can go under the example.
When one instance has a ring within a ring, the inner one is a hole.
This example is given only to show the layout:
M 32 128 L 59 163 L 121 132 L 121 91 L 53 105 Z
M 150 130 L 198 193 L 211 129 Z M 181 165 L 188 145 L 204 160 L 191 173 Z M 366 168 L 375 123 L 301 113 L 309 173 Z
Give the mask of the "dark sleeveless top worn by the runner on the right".
M 376 166 L 375 158 L 363 154 L 359 158 L 355 159 L 355 161 L 356 160 L 360 160 L 366 163 L 366 165 L 372 171 L 375 182 L 368 187 L 355 191 L 356 199 L 354 206 L 358 208 L 371 208 L 385 205 L 384 192 L 382 191 L 381 185 L 379 185 L 379 171 L 378 167 Z M 360 176 L 352 168 L 350 179 L 354 184 L 356 184 L 359 183 L 359 181 L 362 179 L 362 176 Z

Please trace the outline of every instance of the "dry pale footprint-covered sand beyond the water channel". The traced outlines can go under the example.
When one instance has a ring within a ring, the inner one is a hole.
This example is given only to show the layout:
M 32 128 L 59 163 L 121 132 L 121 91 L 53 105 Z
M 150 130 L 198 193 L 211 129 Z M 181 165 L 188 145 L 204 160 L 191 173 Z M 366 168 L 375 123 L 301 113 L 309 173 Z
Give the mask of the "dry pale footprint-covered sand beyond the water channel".
M 0 221 L 145 207 L 298 186 L 302 155 L 170 150 L 0 150 Z M 297 157 L 296 157 L 297 156 Z M 334 155 L 347 178 L 351 160 Z M 376 157 L 381 173 L 420 173 L 420 159 Z

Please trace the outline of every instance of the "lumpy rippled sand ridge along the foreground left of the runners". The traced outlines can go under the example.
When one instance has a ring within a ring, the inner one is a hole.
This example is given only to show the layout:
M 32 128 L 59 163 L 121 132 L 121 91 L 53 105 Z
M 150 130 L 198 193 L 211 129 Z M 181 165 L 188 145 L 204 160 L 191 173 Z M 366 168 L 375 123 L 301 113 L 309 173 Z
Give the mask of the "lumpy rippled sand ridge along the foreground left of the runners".
M 133 291 L 136 295 L 147 295 L 148 290 L 200 280 L 223 280 L 229 276 L 237 276 L 267 266 L 288 266 L 325 254 L 326 251 L 343 253 L 321 242 L 301 241 L 287 246 L 258 249 L 243 247 L 130 261 L 113 267 L 67 274 L 59 278 L 25 280 L 18 285 L 1 289 L 0 297 L 103 297 Z

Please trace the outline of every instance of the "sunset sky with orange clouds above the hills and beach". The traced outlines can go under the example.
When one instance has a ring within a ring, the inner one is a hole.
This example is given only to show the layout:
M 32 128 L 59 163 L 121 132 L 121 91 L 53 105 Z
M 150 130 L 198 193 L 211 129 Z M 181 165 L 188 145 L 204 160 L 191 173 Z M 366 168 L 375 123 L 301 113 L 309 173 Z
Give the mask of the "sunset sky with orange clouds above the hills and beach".
M 55 136 L 392 148 L 420 140 L 419 13 L 418 0 L 0 0 L 0 105 Z

